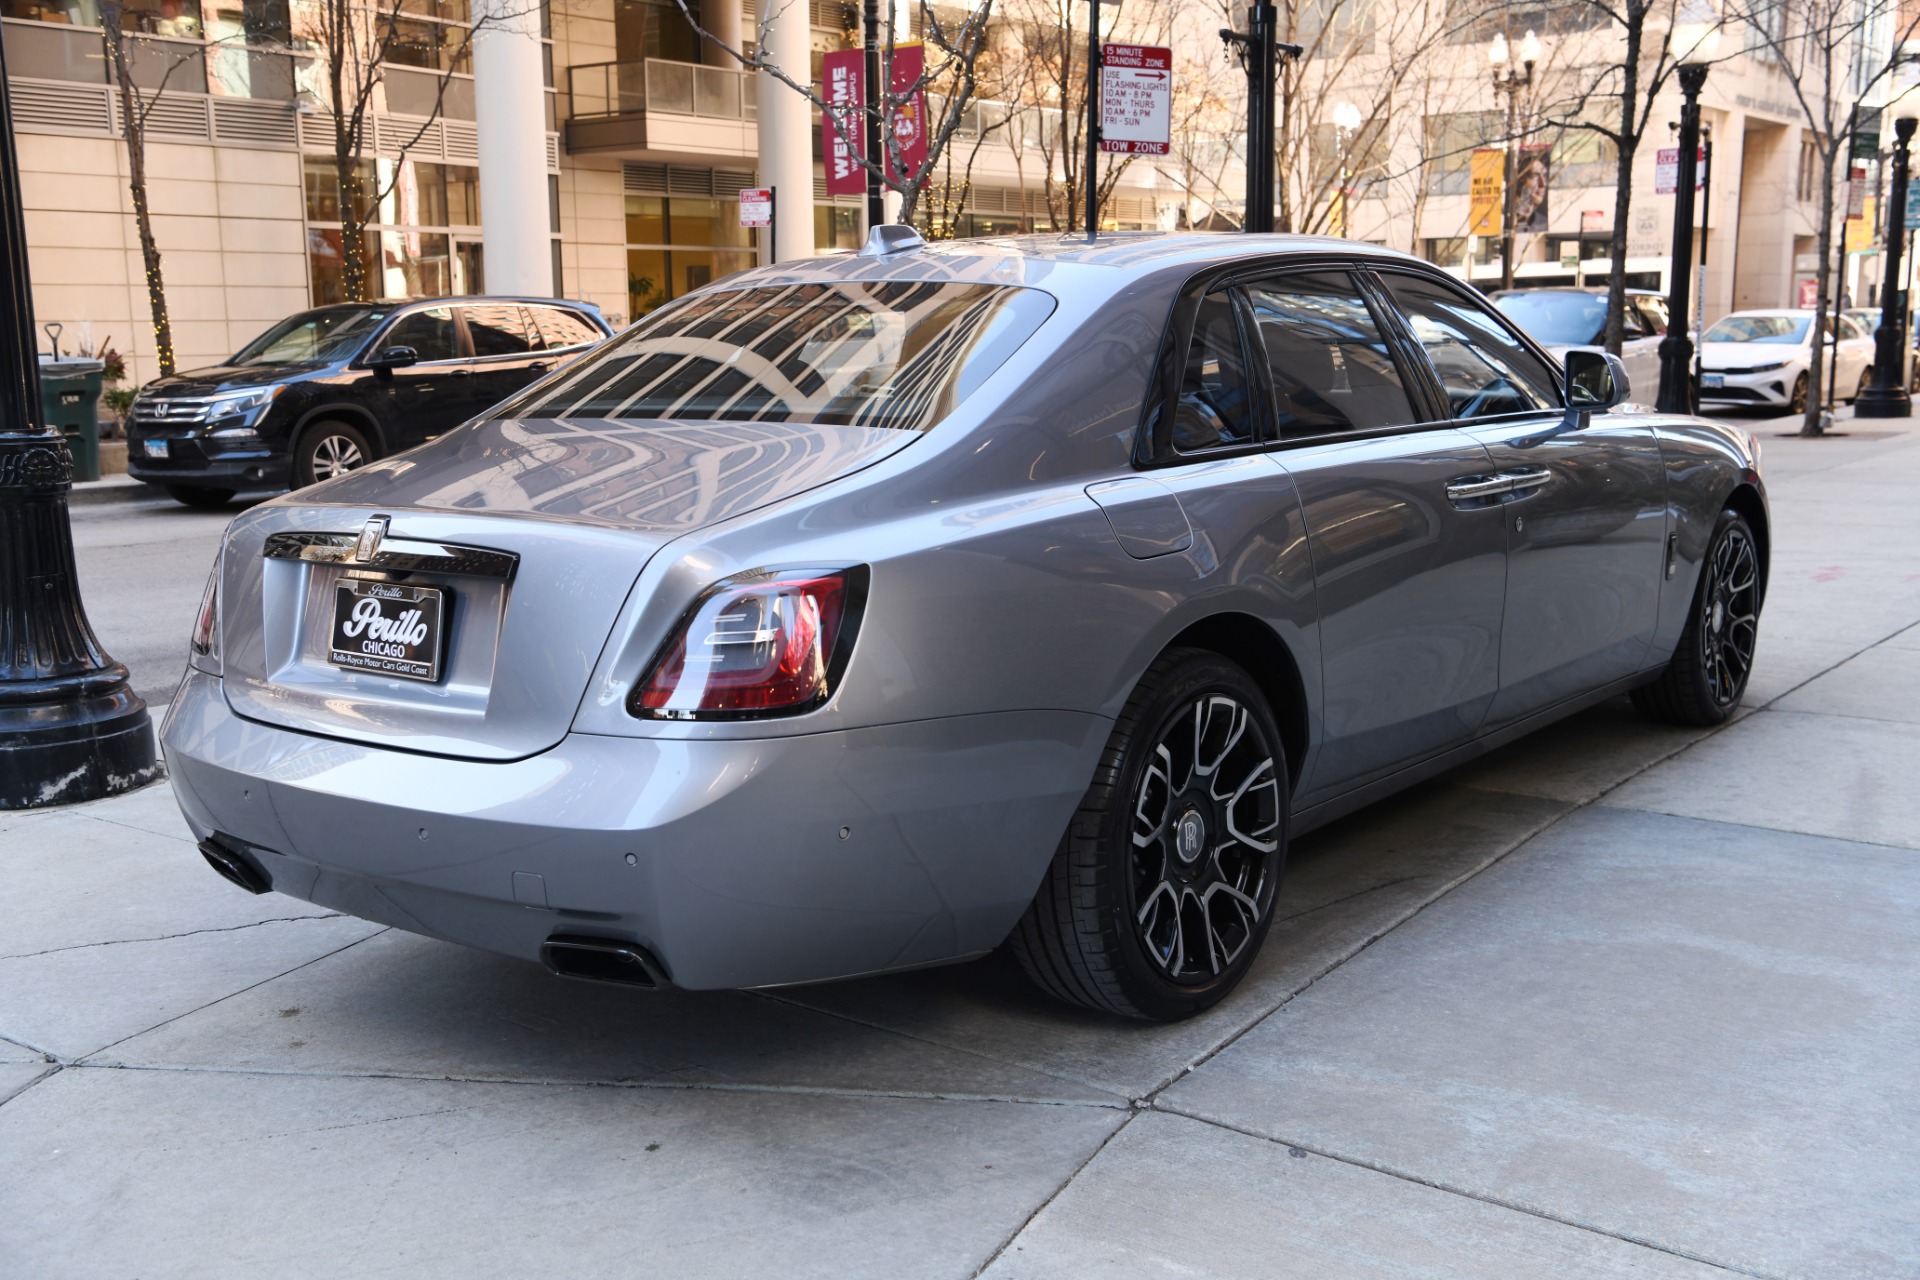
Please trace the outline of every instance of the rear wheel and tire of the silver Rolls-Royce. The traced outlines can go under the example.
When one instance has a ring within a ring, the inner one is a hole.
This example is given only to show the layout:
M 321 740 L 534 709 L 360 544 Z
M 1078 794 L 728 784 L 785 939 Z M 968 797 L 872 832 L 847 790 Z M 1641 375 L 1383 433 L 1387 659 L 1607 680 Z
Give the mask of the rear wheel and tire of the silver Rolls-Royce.
M 1288 775 L 1252 677 L 1173 649 L 1114 723 L 1092 787 L 1010 938 L 1069 1004 L 1177 1021 L 1260 952 L 1286 864 Z

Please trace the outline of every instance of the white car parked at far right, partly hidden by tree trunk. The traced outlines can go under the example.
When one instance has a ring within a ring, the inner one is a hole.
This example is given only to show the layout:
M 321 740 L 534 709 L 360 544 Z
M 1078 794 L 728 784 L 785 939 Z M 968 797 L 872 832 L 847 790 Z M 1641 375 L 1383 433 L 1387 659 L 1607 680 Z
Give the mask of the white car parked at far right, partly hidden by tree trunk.
M 1699 347 L 1701 405 L 1805 413 L 1812 322 L 1812 311 L 1736 311 L 1715 320 Z M 1872 378 L 1874 340 L 1847 315 L 1826 322 L 1839 347 L 1834 388 L 1853 403 Z M 1822 349 L 1822 359 L 1836 357 Z

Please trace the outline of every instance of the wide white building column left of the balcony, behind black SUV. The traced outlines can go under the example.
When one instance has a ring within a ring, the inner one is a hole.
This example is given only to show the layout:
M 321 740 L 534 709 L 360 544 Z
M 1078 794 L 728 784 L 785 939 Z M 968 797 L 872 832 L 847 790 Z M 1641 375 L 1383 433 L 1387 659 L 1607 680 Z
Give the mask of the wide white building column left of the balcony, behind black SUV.
M 472 13 L 486 290 L 543 297 L 555 280 L 540 10 L 524 0 L 474 0 Z

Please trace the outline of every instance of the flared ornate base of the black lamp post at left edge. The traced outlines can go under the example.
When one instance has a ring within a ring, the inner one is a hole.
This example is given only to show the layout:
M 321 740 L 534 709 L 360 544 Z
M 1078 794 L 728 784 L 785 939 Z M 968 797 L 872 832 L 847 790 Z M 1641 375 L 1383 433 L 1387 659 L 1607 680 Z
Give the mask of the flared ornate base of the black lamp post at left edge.
M 58 432 L 0 432 L 0 810 L 77 804 L 161 775 L 146 702 L 81 610 Z

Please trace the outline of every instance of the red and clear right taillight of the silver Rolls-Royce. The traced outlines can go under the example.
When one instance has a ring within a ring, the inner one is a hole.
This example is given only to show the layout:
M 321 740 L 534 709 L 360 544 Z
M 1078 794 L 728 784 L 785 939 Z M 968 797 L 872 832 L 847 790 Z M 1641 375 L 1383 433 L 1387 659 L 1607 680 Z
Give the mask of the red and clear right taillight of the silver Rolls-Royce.
M 701 720 L 818 706 L 852 643 L 856 585 L 851 572 L 795 570 L 712 587 L 634 693 L 634 714 Z

